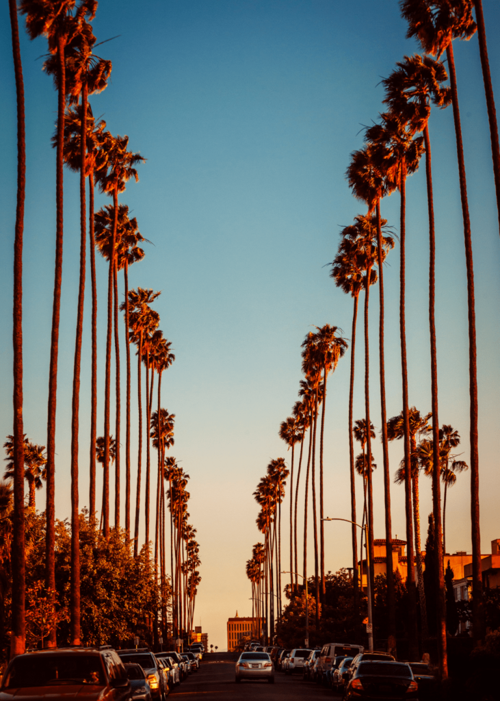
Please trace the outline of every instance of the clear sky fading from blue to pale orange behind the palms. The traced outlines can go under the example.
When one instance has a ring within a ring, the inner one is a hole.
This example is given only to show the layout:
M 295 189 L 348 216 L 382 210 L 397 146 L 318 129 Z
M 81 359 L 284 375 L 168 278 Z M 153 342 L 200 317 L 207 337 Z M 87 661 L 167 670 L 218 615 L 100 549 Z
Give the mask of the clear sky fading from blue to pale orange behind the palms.
M 500 95 L 500 6 L 483 0 L 493 88 Z M 15 82 L 8 6 L 0 7 L 0 435 L 12 432 L 11 300 L 15 222 Z M 404 55 L 395 0 L 101 0 L 96 53 L 113 62 L 109 87 L 90 98 L 113 134 L 147 158 L 139 183 L 120 196 L 151 243 L 130 269 L 130 287 L 162 294 L 154 308 L 176 355 L 162 379 L 162 405 L 176 415 L 171 453 L 190 475 L 190 522 L 200 543 L 202 583 L 195 624 L 225 649 L 225 622 L 251 615 L 245 564 L 261 540 L 252 496 L 272 458 L 290 462 L 279 423 L 297 400 L 300 343 L 328 323 L 351 337 L 352 299 L 329 278 L 339 232 L 364 205 L 345 180 L 363 127 L 383 111 L 380 81 Z M 27 114 L 24 253 L 25 432 L 46 444 L 55 253 L 57 94 L 41 67 L 46 41 L 29 41 L 20 19 Z M 454 43 L 471 211 L 478 333 L 482 552 L 500 537 L 500 241 L 477 37 Z M 440 422 L 461 434 L 468 462 L 468 339 L 464 236 L 451 108 L 429 122 L 436 212 L 436 325 Z M 97 208 L 108 204 L 96 197 Z M 399 197 L 382 202 L 399 230 Z M 407 186 L 407 315 L 410 405 L 430 411 L 429 245 L 424 162 Z M 56 515 L 69 517 L 71 381 L 78 293 L 78 176 L 64 175 L 64 263 L 57 392 Z M 104 260 L 99 295 L 99 416 L 102 435 L 106 329 Z M 399 247 L 384 271 L 387 416 L 401 411 Z M 89 280 L 88 280 L 89 282 Z M 120 295 L 123 295 L 123 283 Z M 378 295 L 370 296 L 370 395 L 380 431 Z M 90 286 L 83 335 L 80 503 L 88 505 Z M 496 310 L 496 311 L 495 311 Z M 122 332 L 123 337 L 123 332 Z M 121 346 L 123 353 L 123 341 Z M 113 361 L 114 362 L 114 361 Z M 363 334 L 358 326 L 354 418 L 363 416 Z M 125 369 L 122 369 L 123 393 Z M 132 382 L 135 374 L 132 375 Z M 124 396 L 124 395 L 123 395 Z M 325 513 L 349 518 L 349 353 L 328 381 Z M 125 411 L 123 409 L 122 415 Z M 111 417 L 113 422 L 113 416 Z M 113 425 L 113 423 L 112 423 Z M 137 459 L 132 404 L 132 466 Z M 2 433 L 3 432 L 3 433 Z M 122 429 L 125 435 L 125 426 Z M 391 472 L 401 460 L 391 444 Z M 374 445 L 375 538 L 384 537 L 382 449 Z M 122 458 L 123 463 L 125 458 Z M 99 468 L 100 469 L 100 468 Z M 124 471 L 124 470 L 123 470 Z M 471 552 L 470 473 L 450 490 L 447 550 Z M 98 485 L 100 483 L 98 482 Z M 143 482 L 144 485 L 144 482 Z M 361 494 L 361 482 L 356 485 Z M 122 486 L 123 489 L 123 486 Z M 123 493 L 123 492 L 122 492 Z M 99 494 L 99 492 L 98 492 Z M 431 510 L 422 477 L 422 540 Z M 391 486 L 393 535 L 404 538 L 403 487 Z M 37 494 L 43 510 L 45 495 Z M 144 502 L 143 502 L 144 503 Z M 289 509 L 286 495 L 283 510 Z M 123 512 L 123 508 L 122 508 Z M 361 518 L 361 515 L 360 515 Z M 288 537 L 286 518 L 282 526 Z M 326 569 L 350 566 L 350 529 L 328 523 Z M 144 536 L 143 536 L 144 537 Z M 312 551 L 312 548 L 310 548 Z M 284 546 L 282 555 L 289 557 Z M 284 566 L 284 569 L 290 569 Z M 309 564 L 311 571 L 311 563 Z

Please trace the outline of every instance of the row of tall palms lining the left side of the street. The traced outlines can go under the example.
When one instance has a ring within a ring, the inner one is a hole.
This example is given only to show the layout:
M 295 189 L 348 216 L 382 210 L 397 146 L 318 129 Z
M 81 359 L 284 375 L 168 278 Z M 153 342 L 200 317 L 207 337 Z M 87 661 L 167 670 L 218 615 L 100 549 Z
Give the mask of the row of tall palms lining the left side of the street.
M 59 356 L 60 295 L 62 280 L 63 246 L 63 177 L 64 163 L 80 175 L 80 266 L 78 278 L 78 304 L 76 310 L 76 340 L 74 352 L 73 392 L 71 404 L 71 644 L 80 644 L 80 594 L 79 594 L 79 421 L 81 351 L 83 334 L 83 310 L 85 303 L 85 277 L 87 275 L 86 246 L 87 227 L 90 241 L 90 287 L 92 297 L 92 379 L 89 437 L 89 518 L 97 524 L 96 507 L 101 507 L 101 529 L 109 538 L 111 528 L 111 465 L 114 464 L 114 527 L 122 521 L 121 483 L 121 397 L 120 397 L 120 332 L 119 311 L 124 313 L 126 356 L 126 406 L 125 406 L 125 533 L 132 533 L 131 517 L 132 482 L 135 486 L 135 509 L 132 542 L 134 555 L 139 552 L 139 526 L 144 519 L 146 545 L 150 541 L 151 526 L 151 442 L 158 453 L 155 512 L 155 567 L 162 582 L 165 599 L 162 604 L 163 625 L 167 620 L 167 564 L 165 501 L 169 498 L 171 522 L 171 571 L 174 593 L 173 629 L 179 634 L 188 630 L 193 620 L 195 592 L 200 576 L 198 546 L 193 538 L 195 531 L 188 526 L 186 501 L 188 494 L 183 486 L 186 476 L 176 467 L 174 458 L 165 456 L 165 451 L 174 443 L 174 414 L 161 407 L 162 373 L 172 365 L 175 356 L 172 344 L 164 338 L 158 328 L 160 316 L 151 304 L 160 292 L 137 287 L 129 290 L 128 271 L 130 265 L 144 258 L 141 245 L 146 241 L 137 224 L 130 216 L 127 205 L 119 203 L 118 197 L 130 179 L 139 179 L 137 165 L 144 158 L 129 150 L 128 137 L 113 136 L 106 123 L 96 120 L 89 97 L 102 92 L 111 74 L 111 61 L 94 53 L 99 46 L 92 31 L 92 20 L 97 11 L 96 0 L 9 0 L 13 36 L 13 57 L 16 90 L 18 97 L 18 207 L 15 224 L 14 256 L 14 421 L 13 437 L 9 447 L 13 480 L 13 618 L 11 653 L 22 653 L 25 647 L 25 549 L 24 549 L 24 493 L 25 470 L 31 448 L 25 443 L 22 422 L 22 233 L 25 204 L 25 111 L 24 83 L 20 56 L 18 11 L 26 16 L 26 29 L 31 39 L 44 36 L 48 42 L 48 57 L 43 69 L 53 77 L 58 95 L 57 125 L 53 136 L 56 149 L 56 247 L 55 283 L 53 292 L 53 320 L 50 343 L 50 372 L 48 388 L 48 433 L 46 465 L 46 590 L 52 605 L 55 600 L 55 428 L 57 400 L 57 363 Z M 88 182 L 88 189 L 87 189 Z M 95 188 L 112 198 L 112 204 L 95 212 Z M 88 224 L 87 224 L 88 220 Z M 104 381 L 104 431 L 97 436 L 97 282 L 95 250 L 108 261 L 107 327 Z M 118 273 L 123 271 L 125 299 L 118 300 Z M 115 352 L 115 426 L 111 427 L 111 353 Z M 137 402 L 138 454 L 137 477 L 132 479 L 131 458 L 131 392 L 132 372 L 130 343 L 137 348 Z M 145 374 L 142 387 L 143 367 Z M 157 380 L 158 407 L 154 407 L 155 379 Z M 144 405 L 143 405 L 144 402 Z M 143 420 L 145 419 L 145 420 Z M 146 465 L 142 464 L 143 444 Z M 43 452 L 43 448 L 42 448 Z M 102 500 L 97 499 L 96 464 L 102 464 Z M 144 469 L 145 468 L 145 469 Z M 174 472 L 172 472 L 174 470 Z M 177 472 L 175 472 L 177 470 Z M 143 474 L 145 472 L 145 475 Z M 29 474 L 32 474 L 29 472 Z M 29 482 L 29 477 L 27 477 Z M 141 485 L 144 482 L 144 506 L 141 505 Z M 165 487 L 168 484 L 167 494 Z M 34 505 L 32 482 L 29 482 L 29 503 Z M 185 485 L 184 485 L 185 486 Z M 186 496 L 187 495 L 187 496 Z M 175 564 L 174 564 L 175 558 Z M 159 570 L 158 570 L 159 567 Z M 172 631 L 171 631 L 172 632 Z M 55 627 L 50 631 L 48 644 L 56 644 Z

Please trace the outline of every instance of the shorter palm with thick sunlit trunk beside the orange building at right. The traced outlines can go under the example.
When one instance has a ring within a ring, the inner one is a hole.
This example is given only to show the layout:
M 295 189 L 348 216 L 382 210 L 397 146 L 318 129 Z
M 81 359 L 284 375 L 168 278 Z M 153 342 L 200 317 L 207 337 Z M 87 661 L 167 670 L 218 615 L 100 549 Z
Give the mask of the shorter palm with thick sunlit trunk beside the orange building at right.
M 429 426 L 429 418 L 432 414 L 426 414 L 422 416 L 416 407 L 411 407 L 408 411 L 408 423 L 410 428 L 410 465 L 411 465 L 411 482 L 412 482 L 412 502 L 413 502 L 413 528 L 415 531 L 415 559 L 417 561 L 417 574 L 418 574 L 418 590 L 419 590 L 419 600 L 420 600 L 420 610 L 422 612 L 422 637 L 426 639 L 429 635 L 427 631 L 427 616 L 426 616 L 426 602 L 425 602 L 425 590 L 424 590 L 424 577 L 422 568 L 422 552 L 420 545 L 420 498 L 419 498 L 419 465 L 415 458 L 417 452 L 417 436 L 419 439 L 422 436 L 429 435 L 431 433 L 431 426 Z M 404 438 L 404 416 L 403 411 L 397 416 L 392 416 L 387 421 L 387 437 L 390 441 L 401 440 Z M 396 483 L 405 484 L 406 483 L 406 473 L 405 473 L 405 461 L 401 464 L 400 468 L 396 472 Z

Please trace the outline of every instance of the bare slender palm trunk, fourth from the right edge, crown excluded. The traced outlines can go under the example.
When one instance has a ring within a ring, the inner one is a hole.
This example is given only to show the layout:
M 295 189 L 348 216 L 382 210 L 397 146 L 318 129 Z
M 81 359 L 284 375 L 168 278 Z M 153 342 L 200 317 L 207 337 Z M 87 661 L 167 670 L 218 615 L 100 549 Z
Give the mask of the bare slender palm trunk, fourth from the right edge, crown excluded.
M 401 374 L 403 379 L 403 431 L 405 445 L 405 512 L 406 512 L 406 540 L 408 557 L 408 576 L 406 587 L 408 590 L 408 638 L 410 660 L 418 659 L 417 637 L 417 600 L 415 592 L 415 557 L 413 552 L 413 526 L 412 526 L 412 474 L 411 474 L 411 449 L 410 449 L 410 421 L 408 416 L 408 365 L 406 360 L 406 327 L 405 327 L 405 207 L 406 207 L 406 172 L 405 165 L 401 163 L 400 172 L 401 192 L 401 264 L 399 272 L 399 334 L 401 339 Z

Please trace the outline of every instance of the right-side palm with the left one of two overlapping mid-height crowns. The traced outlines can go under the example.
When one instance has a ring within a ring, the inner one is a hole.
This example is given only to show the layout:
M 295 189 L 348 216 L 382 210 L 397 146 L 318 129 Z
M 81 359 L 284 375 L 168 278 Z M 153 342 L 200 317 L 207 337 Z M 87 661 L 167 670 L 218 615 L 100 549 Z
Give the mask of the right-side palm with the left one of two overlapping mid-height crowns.
M 351 332 L 351 372 L 349 379 L 349 475 L 351 480 L 351 527 L 352 536 L 352 568 L 354 582 L 354 609 L 359 609 L 358 591 L 358 533 L 356 531 L 356 484 L 354 482 L 354 443 L 352 439 L 352 407 L 354 402 L 354 351 L 356 349 L 356 322 L 358 318 L 359 293 L 363 289 L 363 253 L 356 240 L 343 236 L 338 254 L 333 259 L 330 271 L 335 285 L 346 294 L 351 294 L 354 300 Z

